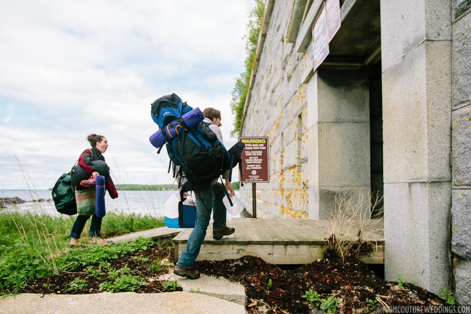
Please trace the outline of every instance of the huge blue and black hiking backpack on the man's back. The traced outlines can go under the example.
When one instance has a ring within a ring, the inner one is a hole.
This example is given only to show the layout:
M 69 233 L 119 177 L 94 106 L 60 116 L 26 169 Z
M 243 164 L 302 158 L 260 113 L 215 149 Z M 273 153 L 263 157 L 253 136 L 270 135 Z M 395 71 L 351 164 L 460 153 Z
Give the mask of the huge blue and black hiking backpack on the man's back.
M 231 156 L 224 145 L 202 121 L 202 114 L 201 120 L 194 126 L 188 127 L 185 123 L 182 116 L 196 109 L 198 108 L 193 109 L 183 103 L 176 94 L 160 97 L 151 107 L 152 119 L 160 130 L 151 135 L 150 141 L 159 148 L 159 153 L 163 144 L 157 143 L 157 135 L 165 137 L 170 157 L 168 171 L 172 169 L 173 163 L 174 178 L 178 175 L 180 179 L 186 178 L 188 181 L 185 183 L 185 190 L 204 189 L 233 166 Z M 175 133 L 169 132 L 170 129 L 176 130 Z M 172 137 L 171 134 L 176 135 Z M 182 180 L 179 181 L 179 187 L 181 183 Z

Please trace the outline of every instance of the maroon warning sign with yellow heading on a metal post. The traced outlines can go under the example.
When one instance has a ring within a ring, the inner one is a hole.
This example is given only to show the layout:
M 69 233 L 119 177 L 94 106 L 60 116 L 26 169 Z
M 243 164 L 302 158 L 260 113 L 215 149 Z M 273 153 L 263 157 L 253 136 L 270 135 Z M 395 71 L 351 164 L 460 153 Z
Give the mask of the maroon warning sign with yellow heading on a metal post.
M 268 137 L 239 137 L 245 144 L 240 158 L 242 173 L 240 182 L 270 182 L 268 168 Z

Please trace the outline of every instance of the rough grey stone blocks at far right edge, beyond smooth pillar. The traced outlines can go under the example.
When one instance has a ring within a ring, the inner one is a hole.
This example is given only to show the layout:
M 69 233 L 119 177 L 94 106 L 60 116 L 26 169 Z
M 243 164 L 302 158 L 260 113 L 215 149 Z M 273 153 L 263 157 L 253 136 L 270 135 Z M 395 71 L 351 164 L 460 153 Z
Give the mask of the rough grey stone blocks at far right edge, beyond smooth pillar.
M 471 304 L 471 1 L 452 2 L 451 251 L 455 298 Z

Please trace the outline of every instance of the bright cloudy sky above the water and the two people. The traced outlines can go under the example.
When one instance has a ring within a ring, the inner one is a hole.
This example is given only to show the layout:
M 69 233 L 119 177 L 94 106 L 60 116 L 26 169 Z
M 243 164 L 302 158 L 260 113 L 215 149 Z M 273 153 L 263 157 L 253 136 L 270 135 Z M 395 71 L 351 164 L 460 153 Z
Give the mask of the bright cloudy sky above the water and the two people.
M 108 139 L 115 183 L 173 183 L 149 142 L 150 104 L 171 93 L 221 110 L 231 147 L 252 2 L 1 1 L 0 190 L 51 188 L 90 133 Z

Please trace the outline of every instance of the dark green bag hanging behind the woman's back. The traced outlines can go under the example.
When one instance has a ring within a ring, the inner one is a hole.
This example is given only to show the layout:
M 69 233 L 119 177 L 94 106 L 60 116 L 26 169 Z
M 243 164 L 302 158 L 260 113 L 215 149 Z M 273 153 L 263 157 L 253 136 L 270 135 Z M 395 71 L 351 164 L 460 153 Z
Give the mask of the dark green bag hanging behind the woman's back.
M 64 173 L 52 188 L 52 200 L 58 212 L 66 215 L 77 213 L 75 188 L 72 185 L 71 173 Z

